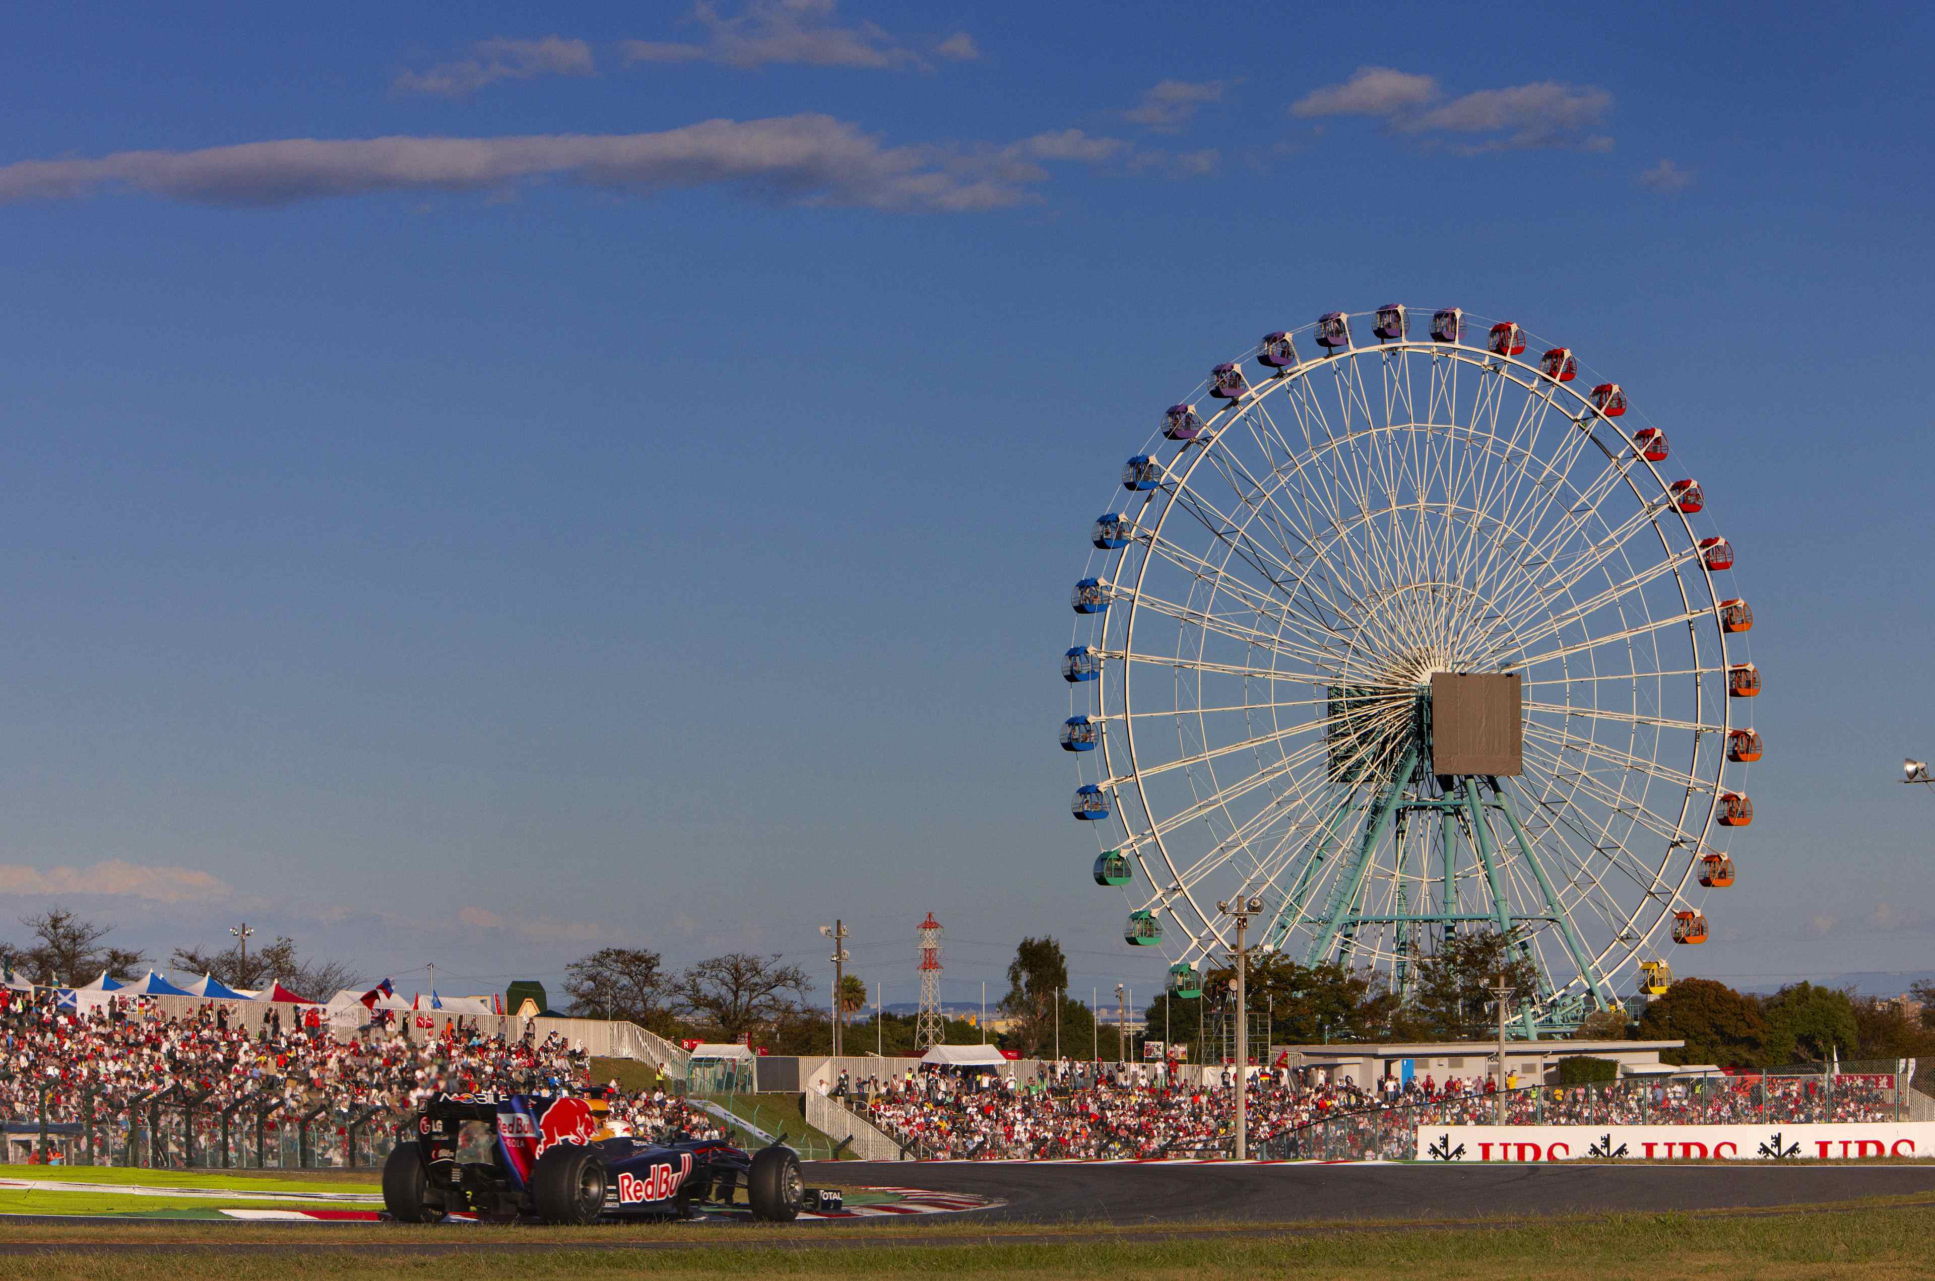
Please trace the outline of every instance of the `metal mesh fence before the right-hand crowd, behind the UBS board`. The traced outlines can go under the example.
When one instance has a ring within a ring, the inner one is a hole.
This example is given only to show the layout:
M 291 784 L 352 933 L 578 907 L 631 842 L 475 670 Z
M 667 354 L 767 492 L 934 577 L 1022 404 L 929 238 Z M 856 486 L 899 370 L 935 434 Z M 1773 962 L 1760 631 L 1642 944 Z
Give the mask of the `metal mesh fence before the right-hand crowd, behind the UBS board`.
M 1533 1086 L 1503 1091 L 1503 1124 L 1517 1126 L 1910 1120 L 1914 1111 L 1906 1074 L 1819 1068 Z M 1409 1161 L 1416 1157 L 1420 1126 L 1486 1126 L 1496 1120 L 1498 1095 L 1442 1095 L 1337 1113 L 1254 1147 L 1260 1157 L 1273 1161 Z

